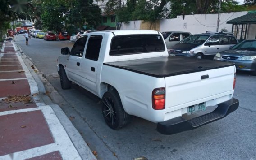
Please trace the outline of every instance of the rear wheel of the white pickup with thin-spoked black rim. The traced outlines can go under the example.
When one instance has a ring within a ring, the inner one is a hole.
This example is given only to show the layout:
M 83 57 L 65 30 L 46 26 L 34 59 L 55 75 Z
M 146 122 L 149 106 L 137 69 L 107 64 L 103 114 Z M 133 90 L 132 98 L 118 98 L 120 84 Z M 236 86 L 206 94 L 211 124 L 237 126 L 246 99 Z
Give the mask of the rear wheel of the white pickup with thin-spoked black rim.
M 129 123 L 130 115 L 124 111 L 117 91 L 105 92 L 102 97 L 102 103 L 102 114 L 110 128 L 116 130 Z

